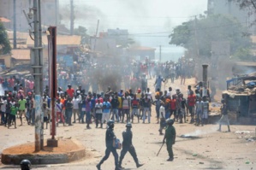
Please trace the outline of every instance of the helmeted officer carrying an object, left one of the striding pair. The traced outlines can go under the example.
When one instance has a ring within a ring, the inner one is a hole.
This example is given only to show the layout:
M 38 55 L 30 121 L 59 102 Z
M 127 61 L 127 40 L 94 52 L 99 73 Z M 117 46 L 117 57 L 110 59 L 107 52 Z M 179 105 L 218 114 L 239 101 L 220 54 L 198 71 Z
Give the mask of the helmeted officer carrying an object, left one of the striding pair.
M 115 170 L 120 170 L 120 168 L 118 167 L 118 154 L 116 152 L 116 148 L 113 146 L 113 141 L 116 139 L 116 135 L 114 133 L 114 126 L 115 126 L 115 121 L 114 120 L 109 120 L 107 122 L 107 131 L 106 131 L 106 136 L 105 136 L 105 142 L 106 142 L 106 150 L 105 150 L 105 155 L 102 158 L 101 161 L 99 161 L 99 163 L 97 164 L 97 168 L 98 170 L 100 170 L 100 166 L 101 164 L 103 164 L 104 161 L 106 161 L 109 156 L 110 153 L 112 152 L 112 154 L 115 157 Z

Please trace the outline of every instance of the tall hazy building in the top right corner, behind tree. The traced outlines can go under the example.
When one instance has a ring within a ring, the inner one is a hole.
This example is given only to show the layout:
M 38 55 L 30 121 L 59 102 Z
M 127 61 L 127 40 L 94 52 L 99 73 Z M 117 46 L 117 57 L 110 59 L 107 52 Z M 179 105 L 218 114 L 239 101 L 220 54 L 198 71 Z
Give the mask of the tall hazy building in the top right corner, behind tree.
M 256 26 L 252 23 L 256 20 L 255 9 L 241 9 L 236 1 L 230 0 L 208 0 L 208 15 L 232 15 L 241 22 L 241 25 L 247 26 L 250 33 L 256 34 Z

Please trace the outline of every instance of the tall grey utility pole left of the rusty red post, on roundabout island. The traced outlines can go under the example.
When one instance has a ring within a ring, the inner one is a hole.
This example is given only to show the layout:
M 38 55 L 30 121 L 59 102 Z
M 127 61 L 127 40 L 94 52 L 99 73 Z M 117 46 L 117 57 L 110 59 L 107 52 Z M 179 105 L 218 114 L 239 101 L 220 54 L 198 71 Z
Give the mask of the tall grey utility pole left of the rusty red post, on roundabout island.
M 42 94 L 42 55 L 40 55 L 40 51 L 42 50 L 42 44 L 39 39 L 40 33 L 39 32 L 39 23 L 41 24 L 41 14 L 40 14 L 40 0 L 33 0 L 33 26 L 34 26 L 34 47 L 32 49 L 32 67 L 33 67 L 33 77 L 34 77 L 34 87 L 35 87 L 35 151 L 39 151 L 42 149 L 41 147 L 41 134 L 42 134 L 42 120 L 43 114 L 41 111 L 41 94 Z M 43 139 L 44 140 L 44 139 Z

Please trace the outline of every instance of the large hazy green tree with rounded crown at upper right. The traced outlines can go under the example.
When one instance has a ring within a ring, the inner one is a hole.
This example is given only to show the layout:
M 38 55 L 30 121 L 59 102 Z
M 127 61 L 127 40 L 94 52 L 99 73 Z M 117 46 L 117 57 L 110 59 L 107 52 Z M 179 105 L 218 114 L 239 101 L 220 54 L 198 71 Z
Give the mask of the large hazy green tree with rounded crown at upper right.
M 176 26 L 170 34 L 170 44 L 176 44 L 188 51 L 199 50 L 199 56 L 211 56 L 212 41 L 229 41 L 230 55 L 236 50 L 252 47 L 252 40 L 244 36 L 247 29 L 228 15 L 210 15 Z M 195 52 L 193 54 L 196 55 Z

